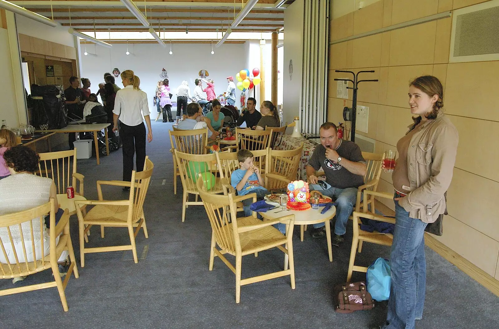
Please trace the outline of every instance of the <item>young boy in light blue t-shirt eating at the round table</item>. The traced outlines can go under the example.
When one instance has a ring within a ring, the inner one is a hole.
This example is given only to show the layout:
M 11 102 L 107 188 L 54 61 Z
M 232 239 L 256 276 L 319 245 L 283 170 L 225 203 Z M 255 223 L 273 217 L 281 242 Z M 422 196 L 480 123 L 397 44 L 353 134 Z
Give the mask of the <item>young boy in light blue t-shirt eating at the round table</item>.
M 253 164 L 253 154 L 248 150 L 238 151 L 239 169 L 232 172 L 231 185 L 236 189 L 238 195 L 256 193 L 257 200 L 263 200 L 263 197 L 269 194 L 263 187 L 263 178 L 260 170 Z M 245 216 L 251 216 L 250 205 L 253 199 L 243 200 Z

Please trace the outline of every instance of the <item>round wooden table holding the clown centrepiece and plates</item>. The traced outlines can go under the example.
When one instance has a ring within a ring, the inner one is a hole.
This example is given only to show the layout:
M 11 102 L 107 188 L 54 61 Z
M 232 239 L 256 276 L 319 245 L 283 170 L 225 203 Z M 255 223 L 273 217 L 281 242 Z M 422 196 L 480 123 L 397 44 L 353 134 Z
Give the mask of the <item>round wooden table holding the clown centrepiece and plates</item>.
M 303 241 L 304 225 L 324 223 L 326 225 L 327 252 L 329 254 L 329 261 L 332 262 L 333 252 L 331 247 L 331 231 L 330 231 L 329 220 L 331 220 L 334 217 L 334 215 L 336 215 L 336 207 L 332 206 L 324 214 L 320 213 L 322 209 L 324 209 L 324 207 L 319 207 L 319 209 L 310 208 L 301 211 L 298 210 L 281 211 L 282 209 L 275 208 L 266 212 L 259 212 L 259 214 L 265 219 L 275 219 L 289 214 L 294 214 L 294 225 L 301 225 L 300 226 L 301 241 Z

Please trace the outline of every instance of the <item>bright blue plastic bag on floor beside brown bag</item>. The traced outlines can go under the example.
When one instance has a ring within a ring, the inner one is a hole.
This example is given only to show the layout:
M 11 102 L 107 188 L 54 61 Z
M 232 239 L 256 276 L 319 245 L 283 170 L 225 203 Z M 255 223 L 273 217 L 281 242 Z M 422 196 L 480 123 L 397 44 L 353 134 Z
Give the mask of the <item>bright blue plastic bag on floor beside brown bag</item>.
M 378 258 L 367 269 L 367 291 L 378 302 L 390 298 L 390 264 L 386 259 Z

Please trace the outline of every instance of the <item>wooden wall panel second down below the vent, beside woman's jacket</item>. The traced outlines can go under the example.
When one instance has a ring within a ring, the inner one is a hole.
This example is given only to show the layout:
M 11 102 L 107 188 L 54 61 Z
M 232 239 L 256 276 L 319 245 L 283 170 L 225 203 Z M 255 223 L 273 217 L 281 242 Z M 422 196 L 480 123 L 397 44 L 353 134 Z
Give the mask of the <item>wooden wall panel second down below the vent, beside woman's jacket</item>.
M 456 167 L 499 181 L 499 122 L 457 116 L 449 118 L 459 132 Z

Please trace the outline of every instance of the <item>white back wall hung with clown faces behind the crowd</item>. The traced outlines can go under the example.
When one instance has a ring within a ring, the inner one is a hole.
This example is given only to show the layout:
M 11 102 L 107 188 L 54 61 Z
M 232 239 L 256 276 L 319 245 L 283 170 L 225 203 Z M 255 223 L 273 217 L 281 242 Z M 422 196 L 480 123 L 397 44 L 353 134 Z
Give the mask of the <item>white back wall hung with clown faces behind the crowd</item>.
M 117 67 L 121 72 L 133 70 L 140 78 L 140 88 L 147 93 L 149 108 L 152 113 L 153 97 L 156 91 L 156 84 L 160 79 L 160 73 L 164 67 L 168 71 L 170 88 L 174 97 L 177 87 L 182 80 L 189 82 L 191 95 L 194 93 L 194 80 L 199 78 L 199 71 L 204 69 L 210 74 L 209 78 L 215 81 L 215 92 L 217 96 L 227 90 L 227 76 L 234 76 L 236 73 L 246 68 L 247 52 L 245 44 L 223 44 L 220 48 L 214 48 L 212 55 L 211 44 L 188 44 L 173 43 L 173 55 L 170 55 L 170 47 L 162 48 L 159 44 L 137 43 L 129 44 L 128 50 L 134 55 L 126 55 L 126 44 L 113 44 L 112 48 L 104 48 L 94 45 L 87 45 L 87 52 L 97 52 L 97 56 L 81 56 L 82 78 L 90 79 L 92 83 L 90 90 L 96 93 L 98 84 L 103 82 L 104 73 L 112 73 L 112 69 Z M 81 52 L 85 51 L 85 45 L 81 45 Z M 235 81 L 237 83 L 237 81 Z M 116 84 L 122 87 L 121 79 L 116 79 Z M 206 86 L 206 85 L 205 85 Z M 236 105 L 239 106 L 241 91 L 236 88 Z

